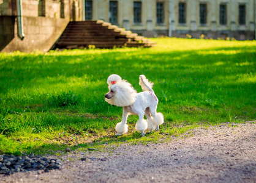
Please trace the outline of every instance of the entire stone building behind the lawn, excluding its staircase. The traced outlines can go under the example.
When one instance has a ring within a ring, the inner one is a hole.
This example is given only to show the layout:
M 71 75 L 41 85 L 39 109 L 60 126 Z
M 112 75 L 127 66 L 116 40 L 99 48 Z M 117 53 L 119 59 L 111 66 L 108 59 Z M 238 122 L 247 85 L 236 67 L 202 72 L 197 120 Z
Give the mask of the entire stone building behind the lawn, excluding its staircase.
M 48 51 L 69 21 L 145 37 L 255 39 L 256 0 L 0 0 L 0 51 Z

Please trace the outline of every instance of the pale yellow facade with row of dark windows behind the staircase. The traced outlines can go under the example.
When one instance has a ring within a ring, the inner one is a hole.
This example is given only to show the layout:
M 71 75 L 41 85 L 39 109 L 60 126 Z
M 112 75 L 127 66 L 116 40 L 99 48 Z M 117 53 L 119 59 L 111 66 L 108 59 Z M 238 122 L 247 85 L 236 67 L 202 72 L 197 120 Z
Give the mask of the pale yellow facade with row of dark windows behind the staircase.
M 145 37 L 255 39 L 255 0 L 91 0 L 83 20 L 104 20 Z

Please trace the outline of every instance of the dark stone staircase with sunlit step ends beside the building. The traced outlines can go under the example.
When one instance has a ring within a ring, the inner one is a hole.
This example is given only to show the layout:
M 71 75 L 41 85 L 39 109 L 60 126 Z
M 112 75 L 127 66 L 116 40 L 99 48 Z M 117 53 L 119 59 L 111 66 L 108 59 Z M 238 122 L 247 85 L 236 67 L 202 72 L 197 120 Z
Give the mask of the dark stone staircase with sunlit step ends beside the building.
M 102 20 L 86 20 L 70 21 L 53 49 L 94 48 L 94 46 L 95 48 L 122 48 L 124 46 L 149 48 L 155 44 L 145 37 L 111 23 Z

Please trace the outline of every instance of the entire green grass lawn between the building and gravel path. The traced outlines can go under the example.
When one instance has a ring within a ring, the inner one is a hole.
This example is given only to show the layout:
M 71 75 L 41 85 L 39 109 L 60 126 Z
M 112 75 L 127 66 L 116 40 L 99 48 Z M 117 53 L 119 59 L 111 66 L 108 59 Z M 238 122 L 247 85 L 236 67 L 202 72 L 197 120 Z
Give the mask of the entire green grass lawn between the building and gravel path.
M 198 125 L 255 120 L 256 41 L 154 38 L 154 48 L 0 53 L 0 154 L 55 152 L 105 142 L 154 142 Z M 107 77 L 141 91 L 154 82 L 159 132 L 115 137 L 122 107 L 104 101 Z

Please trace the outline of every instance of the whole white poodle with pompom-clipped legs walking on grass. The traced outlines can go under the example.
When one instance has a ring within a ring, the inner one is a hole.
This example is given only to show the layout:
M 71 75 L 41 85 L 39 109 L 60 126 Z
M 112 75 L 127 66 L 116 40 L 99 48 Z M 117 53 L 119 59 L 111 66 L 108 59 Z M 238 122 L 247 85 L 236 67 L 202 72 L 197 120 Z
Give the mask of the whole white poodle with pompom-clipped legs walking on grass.
M 122 121 L 116 124 L 116 131 L 122 135 L 127 133 L 127 118 L 129 115 L 138 115 L 135 129 L 145 135 L 145 130 L 152 132 L 159 130 L 159 125 L 164 123 L 164 115 L 157 113 L 158 99 L 152 90 L 153 83 L 144 75 L 140 75 L 140 86 L 143 92 L 137 93 L 132 85 L 116 74 L 112 74 L 107 80 L 109 92 L 105 95 L 105 101 L 111 105 L 122 107 Z M 144 119 L 146 115 L 147 120 Z M 152 115 L 152 116 L 151 116 Z

